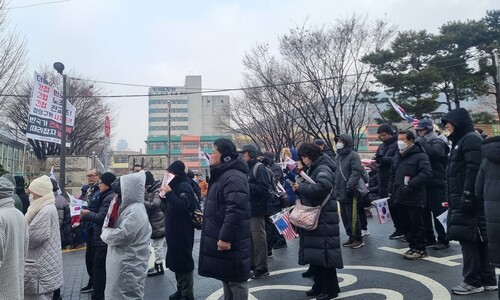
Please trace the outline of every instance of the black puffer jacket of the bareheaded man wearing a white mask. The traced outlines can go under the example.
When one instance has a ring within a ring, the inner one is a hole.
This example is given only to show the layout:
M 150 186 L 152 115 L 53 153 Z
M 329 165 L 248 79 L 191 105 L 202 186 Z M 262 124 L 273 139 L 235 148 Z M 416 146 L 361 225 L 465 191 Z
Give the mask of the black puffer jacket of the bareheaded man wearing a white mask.
M 432 177 L 429 157 L 419 145 L 413 144 L 404 154 L 394 158 L 389 184 L 392 186 L 394 203 L 425 207 L 425 183 Z M 408 185 L 405 186 L 405 177 Z

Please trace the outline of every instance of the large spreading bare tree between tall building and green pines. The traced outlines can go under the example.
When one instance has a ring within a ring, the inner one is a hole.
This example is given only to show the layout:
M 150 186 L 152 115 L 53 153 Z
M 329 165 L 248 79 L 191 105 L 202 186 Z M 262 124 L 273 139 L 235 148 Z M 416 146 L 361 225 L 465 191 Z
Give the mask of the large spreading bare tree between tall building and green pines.
M 385 21 L 352 16 L 328 28 L 290 30 L 279 39 L 279 56 L 258 45 L 244 57 L 246 89 L 232 108 L 231 125 L 262 145 L 275 139 L 273 149 L 311 138 L 332 147 L 341 133 L 351 134 L 357 147 L 368 123 L 372 72 L 360 60 L 393 32 Z M 283 133 L 291 128 L 301 140 Z

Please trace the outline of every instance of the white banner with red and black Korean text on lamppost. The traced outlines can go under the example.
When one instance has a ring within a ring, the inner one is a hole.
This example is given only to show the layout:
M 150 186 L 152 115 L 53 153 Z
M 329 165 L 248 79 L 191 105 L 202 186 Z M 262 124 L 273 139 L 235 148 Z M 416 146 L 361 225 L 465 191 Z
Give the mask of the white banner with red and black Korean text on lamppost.
M 75 126 L 76 108 L 66 100 L 66 134 L 71 137 Z M 62 93 L 50 86 L 35 72 L 26 137 L 61 144 Z M 66 147 L 71 141 L 66 140 Z

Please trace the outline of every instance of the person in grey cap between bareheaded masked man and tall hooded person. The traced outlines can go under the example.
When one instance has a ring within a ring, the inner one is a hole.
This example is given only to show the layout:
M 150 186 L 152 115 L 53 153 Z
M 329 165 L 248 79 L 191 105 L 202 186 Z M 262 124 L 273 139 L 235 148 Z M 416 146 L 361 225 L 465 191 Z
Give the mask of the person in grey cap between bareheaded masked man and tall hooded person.
M 447 211 L 443 206 L 445 202 L 445 170 L 448 163 L 448 145 L 439 139 L 430 119 L 422 119 L 415 127 L 418 143 L 424 152 L 429 156 L 432 168 L 432 178 L 425 185 L 427 203 L 424 208 L 424 227 L 425 244 L 433 246 L 434 250 L 443 250 L 449 248 L 449 242 L 446 238 L 446 231 L 437 217 Z M 434 228 L 433 224 L 434 223 Z M 434 236 L 434 229 L 437 233 Z

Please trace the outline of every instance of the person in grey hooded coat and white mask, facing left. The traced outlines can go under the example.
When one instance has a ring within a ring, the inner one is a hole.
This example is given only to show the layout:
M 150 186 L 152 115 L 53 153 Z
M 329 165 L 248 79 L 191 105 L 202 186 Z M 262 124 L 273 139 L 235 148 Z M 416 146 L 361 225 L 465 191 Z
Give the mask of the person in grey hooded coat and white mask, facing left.
M 358 153 L 354 151 L 354 141 L 348 134 L 335 137 L 337 143 L 337 172 L 335 172 L 335 196 L 340 203 L 340 215 L 345 232 L 349 239 L 342 243 L 344 247 L 358 249 L 365 245 L 359 223 L 358 202 L 360 194 L 357 186 L 360 179 L 364 180 L 365 170 Z M 354 216 L 353 216 L 354 214 Z

